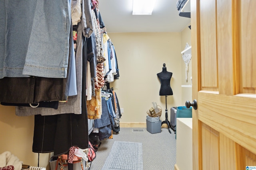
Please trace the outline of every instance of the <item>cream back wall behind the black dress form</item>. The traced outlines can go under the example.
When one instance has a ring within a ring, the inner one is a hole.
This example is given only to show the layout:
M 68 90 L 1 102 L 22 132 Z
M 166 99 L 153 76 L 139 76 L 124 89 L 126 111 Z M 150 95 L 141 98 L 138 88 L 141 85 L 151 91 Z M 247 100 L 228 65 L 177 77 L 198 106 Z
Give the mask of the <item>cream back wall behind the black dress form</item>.
M 170 108 L 181 105 L 181 33 L 108 33 L 113 42 L 120 78 L 111 84 L 124 108 L 121 123 L 145 123 L 146 111 L 156 102 L 165 120 L 165 96 L 159 96 L 160 81 L 156 76 L 163 63 L 172 72 L 173 96 L 167 97 Z

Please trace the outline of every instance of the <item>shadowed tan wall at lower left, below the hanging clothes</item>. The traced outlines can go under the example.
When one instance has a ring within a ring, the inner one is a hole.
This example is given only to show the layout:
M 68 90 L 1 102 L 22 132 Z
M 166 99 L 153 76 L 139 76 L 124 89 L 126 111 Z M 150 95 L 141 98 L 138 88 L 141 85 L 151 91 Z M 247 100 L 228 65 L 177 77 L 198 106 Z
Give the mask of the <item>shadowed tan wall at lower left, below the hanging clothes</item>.
M 32 152 L 34 116 L 18 117 L 14 106 L 0 105 L 0 129 L 0 154 L 10 151 L 23 164 L 38 165 L 38 153 Z M 50 156 L 48 153 L 40 154 L 39 166 L 47 167 Z

